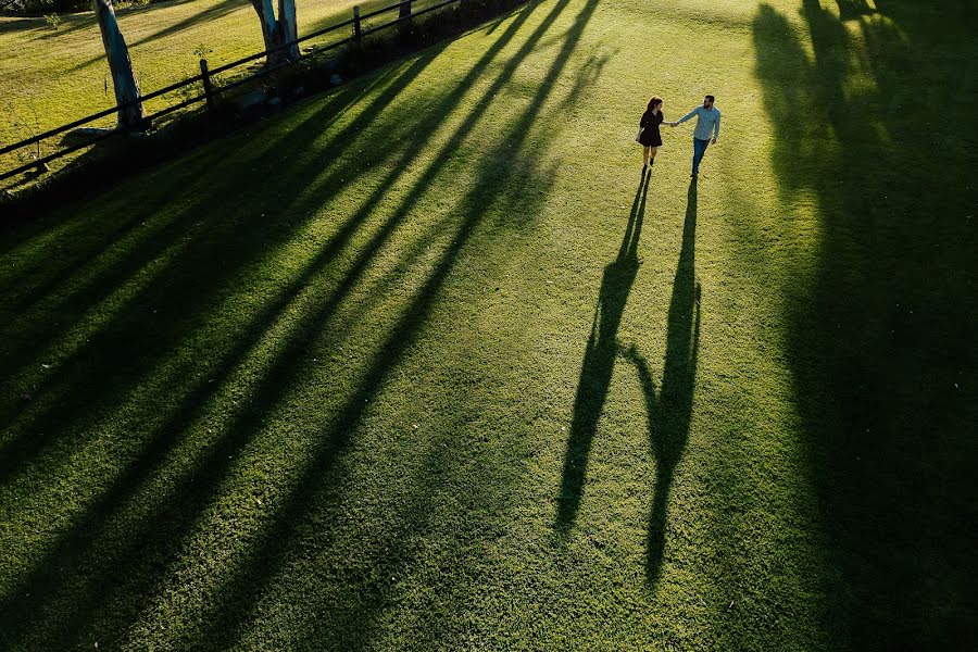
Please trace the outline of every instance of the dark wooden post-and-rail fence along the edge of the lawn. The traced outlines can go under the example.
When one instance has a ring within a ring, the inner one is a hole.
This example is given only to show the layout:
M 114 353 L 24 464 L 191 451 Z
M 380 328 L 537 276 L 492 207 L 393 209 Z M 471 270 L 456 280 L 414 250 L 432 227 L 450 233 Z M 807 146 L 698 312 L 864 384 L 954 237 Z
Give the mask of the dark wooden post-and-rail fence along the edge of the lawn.
M 263 50 L 261 52 L 255 52 L 254 54 L 249 54 L 248 57 L 243 57 L 241 59 L 231 61 L 230 63 L 225 63 L 223 65 L 220 65 L 220 66 L 217 66 L 215 68 L 211 68 L 211 70 L 208 68 L 206 61 L 201 60 L 201 73 L 198 75 L 193 75 L 192 77 L 181 79 L 180 82 L 176 82 L 175 84 L 171 84 L 170 86 L 165 86 L 165 87 L 163 87 L 159 90 L 154 90 L 150 93 L 139 96 L 135 100 L 130 100 L 128 102 L 123 102 L 121 104 L 116 104 L 115 106 L 112 106 L 111 109 L 105 109 L 104 111 L 99 111 L 98 113 L 92 113 L 91 115 L 78 118 L 78 120 L 67 123 L 65 125 L 61 125 L 60 127 L 49 129 L 47 131 L 43 131 L 42 134 L 32 136 L 30 138 L 25 138 L 24 140 L 14 142 L 13 145 L 7 145 L 3 147 L 0 147 L 0 155 L 9 154 L 11 152 L 30 147 L 32 145 L 36 145 L 38 142 L 41 142 L 42 140 L 47 140 L 48 138 L 58 136 L 59 134 L 64 134 L 66 131 L 70 131 L 77 127 L 82 127 L 82 126 L 89 124 L 91 122 L 95 122 L 97 120 L 101 120 L 103 117 L 108 117 L 110 115 L 118 113 L 120 111 L 127 109 L 129 106 L 136 105 L 140 102 L 146 102 L 148 100 L 159 98 L 161 96 L 173 92 L 175 90 L 179 90 L 181 88 L 186 88 L 186 87 L 191 86 L 197 83 L 202 83 L 203 88 L 204 88 L 203 93 L 188 98 L 188 99 L 186 99 L 181 102 L 178 102 L 172 106 L 167 106 L 166 109 L 162 109 L 160 111 L 156 111 L 155 113 L 147 115 L 143 117 L 143 122 L 146 124 L 150 124 L 155 118 L 162 117 L 164 115 L 168 115 L 168 114 L 179 111 L 181 109 L 186 109 L 187 106 L 190 106 L 198 102 L 206 102 L 208 105 L 212 105 L 214 96 L 216 95 L 217 91 L 227 91 L 233 88 L 237 88 L 239 86 L 250 84 L 256 79 L 261 79 L 267 75 L 271 75 L 272 73 L 275 73 L 284 67 L 287 67 L 288 65 L 291 65 L 291 62 L 285 61 L 283 63 L 278 63 L 275 65 L 265 66 L 264 68 L 262 68 L 251 75 L 247 75 L 240 79 L 235 79 L 234 82 L 226 84 L 224 86 L 221 86 L 220 88 L 214 88 L 212 86 L 212 79 L 215 75 L 218 75 L 221 73 L 226 73 L 227 71 L 234 70 L 236 67 L 251 63 L 253 61 L 258 61 L 262 58 L 267 58 L 271 54 L 281 52 L 284 50 L 287 50 L 288 48 L 291 48 L 299 43 L 305 42 L 310 39 L 317 38 L 317 37 L 326 35 L 326 34 L 337 32 L 339 29 L 343 29 L 344 27 L 351 27 L 351 26 L 353 27 L 353 33 L 351 36 L 348 36 L 338 41 L 330 42 L 325 46 L 318 47 L 309 53 L 309 55 L 322 54 L 324 52 L 335 50 L 337 48 L 340 48 L 340 47 L 346 46 L 351 42 L 359 42 L 365 36 L 368 36 L 371 34 L 376 34 L 377 32 L 387 29 L 389 27 L 393 27 L 394 25 L 399 25 L 401 23 L 404 23 L 404 22 L 415 18 L 417 16 L 430 13 L 432 11 L 436 11 L 438 9 L 447 7 L 449 4 L 455 4 L 460 1 L 461 0 L 442 0 L 441 2 L 437 2 L 436 4 L 432 4 L 431 7 L 426 7 L 425 9 L 422 9 L 422 10 L 412 11 L 411 10 L 412 4 L 417 3 L 418 0 L 401 0 L 400 2 L 396 2 L 388 7 L 384 7 L 384 8 L 377 9 L 375 11 L 362 14 L 362 15 L 360 13 L 360 8 L 354 7 L 352 18 L 347 18 L 346 21 L 341 21 L 339 23 L 329 25 L 328 27 L 324 27 L 323 29 L 317 29 L 316 32 L 306 34 L 305 36 L 301 36 L 297 39 L 280 43 L 278 46 L 275 46 L 274 48 L 269 48 L 268 50 Z M 397 18 L 393 18 L 392 21 L 388 21 L 387 23 L 384 23 L 383 25 L 377 25 L 376 27 L 368 27 L 366 29 L 363 28 L 363 21 L 373 18 L 375 16 L 378 16 L 378 15 L 381 15 L 385 13 L 389 13 L 389 12 L 392 12 L 396 10 L 399 10 L 399 12 L 400 12 L 400 14 Z M 88 138 L 85 142 L 64 147 L 64 148 L 58 150 L 57 152 L 53 152 L 46 156 L 40 156 L 36 160 L 30 161 L 29 163 L 27 163 L 25 165 L 21 165 L 13 170 L 3 172 L 2 174 L 0 174 L 0 180 L 9 179 L 9 178 L 17 176 L 20 174 L 24 174 L 26 172 L 37 170 L 37 168 L 41 167 L 42 165 L 50 163 L 51 161 L 55 161 L 58 159 L 61 159 L 62 156 L 66 156 L 78 150 L 85 149 L 87 147 L 91 147 L 92 145 L 96 145 L 97 142 L 101 142 L 103 140 L 106 140 L 106 139 L 109 139 L 117 134 L 122 134 L 122 133 L 125 133 L 125 131 L 123 129 L 115 128 L 115 129 L 109 129 L 103 134 L 96 134 L 96 135 L 91 136 L 90 138 Z

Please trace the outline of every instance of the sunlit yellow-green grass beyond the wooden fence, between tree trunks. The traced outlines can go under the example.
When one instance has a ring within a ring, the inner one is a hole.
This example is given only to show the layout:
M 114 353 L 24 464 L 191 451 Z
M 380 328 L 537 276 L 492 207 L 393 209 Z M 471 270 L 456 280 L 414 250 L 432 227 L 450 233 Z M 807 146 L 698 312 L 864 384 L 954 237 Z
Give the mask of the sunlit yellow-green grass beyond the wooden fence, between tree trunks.
M 360 4 L 363 13 L 388 7 L 396 0 L 297 0 L 299 35 L 339 23 Z M 434 4 L 418 0 L 416 7 Z M 200 73 L 200 54 L 212 68 L 261 52 L 261 27 L 248 0 L 170 0 L 120 9 L 120 28 L 129 46 L 133 68 L 143 93 L 149 93 Z M 381 14 L 372 24 L 397 16 Z M 349 36 L 338 30 L 302 43 L 324 45 Z M 237 68 L 228 75 L 241 74 Z M 198 88 L 199 92 L 200 89 Z M 146 109 L 159 111 L 184 99 L 180 91 L 149 100 Z M 43 17 L 0 16 L 0 143 L 67 124 L 111 108 L 115 103 L 109 64 L 91 12 L 66 14 L 52 28 Z M 114 117 L 90 126 L 111 127 Z M 42 143 L 42 153 L 54 151 Z M 14 154 L 0 156 L 0 167 L 15 167 Z

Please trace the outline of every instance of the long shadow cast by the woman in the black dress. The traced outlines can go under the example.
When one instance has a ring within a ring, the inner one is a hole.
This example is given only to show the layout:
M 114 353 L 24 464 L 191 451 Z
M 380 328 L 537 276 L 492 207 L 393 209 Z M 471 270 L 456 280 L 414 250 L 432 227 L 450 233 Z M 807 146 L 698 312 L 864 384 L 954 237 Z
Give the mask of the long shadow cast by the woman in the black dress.
M 567 438 L 567 452 L 564 456 L 556 515 L 556 527 L 562 531 L 569 529 L 577 515 L 591 440 L 594 438 L 598 419 L 607 398 L 615 355 L 618 352 L 616 340 L 618 325 L 622 323 L 628 292 L 638 273 L 638 243 L 642 233 L 645 197 L 651 176 L 651 171 L 648 174 L 642 173 L 618 255 L 604 267 L 604 275 L 601 278 L 598 306 L 594 310 L 591 335 L 588 338 L 580 378 L 577 381 L 574 415 Z

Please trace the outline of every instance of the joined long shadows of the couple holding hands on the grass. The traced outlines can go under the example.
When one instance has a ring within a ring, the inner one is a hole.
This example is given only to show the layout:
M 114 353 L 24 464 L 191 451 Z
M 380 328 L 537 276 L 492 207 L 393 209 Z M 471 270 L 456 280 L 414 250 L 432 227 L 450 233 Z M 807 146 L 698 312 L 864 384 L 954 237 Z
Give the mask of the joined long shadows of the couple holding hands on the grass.
M 700 341 L 700 286 L 695 280 L 697 181 L 693 179 L 687 197 L 682 246 L 669 300 L 665 364 L 656 388 L 648 361 L 638 348 L 635 344 L 625 348 L 617 340 L 618 326 L 638 273 L 638 244 L 650 178 L 651 171 L 642 174 L 622 246 L 615 259 L 605 266 L 601 279 L 598 306 L 574 400 L 556 528 L 566 534 L 577 516 L 591 442 L 607 398 L 615 361 L 620 355 L 635 367 L 642 388 L 649 440 L 656 465 L 645 546 L 645 577 L 650 585 L 654 585 L 659 580 L 665 550 L 669 489 L 689 437 Z

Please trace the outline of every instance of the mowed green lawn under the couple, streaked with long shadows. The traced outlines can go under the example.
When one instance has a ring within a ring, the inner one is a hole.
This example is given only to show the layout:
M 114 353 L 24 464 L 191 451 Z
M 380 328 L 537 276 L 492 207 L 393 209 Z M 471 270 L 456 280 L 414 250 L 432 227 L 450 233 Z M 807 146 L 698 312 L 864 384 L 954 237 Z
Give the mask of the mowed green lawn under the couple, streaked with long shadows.
M 0 647 L 973 649 L 975 27 L 534 2 L 10 230 Z

